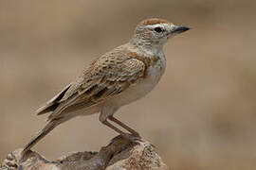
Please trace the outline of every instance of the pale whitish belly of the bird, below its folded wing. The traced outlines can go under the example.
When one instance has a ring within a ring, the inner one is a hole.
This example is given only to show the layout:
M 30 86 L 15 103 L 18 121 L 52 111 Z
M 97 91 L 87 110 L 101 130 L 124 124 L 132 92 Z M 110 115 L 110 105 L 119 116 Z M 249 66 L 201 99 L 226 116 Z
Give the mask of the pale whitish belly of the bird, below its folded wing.
M 155 67 L 149 67 L 147 76 L 141 79 L 137 84 L 131 85 L 123 93 L 120 93 L 114 100 L 118 107 L 127 105 L 137 99 L 150 93 L 160 80 L 165 70 L 165 65 L 155 64 Z

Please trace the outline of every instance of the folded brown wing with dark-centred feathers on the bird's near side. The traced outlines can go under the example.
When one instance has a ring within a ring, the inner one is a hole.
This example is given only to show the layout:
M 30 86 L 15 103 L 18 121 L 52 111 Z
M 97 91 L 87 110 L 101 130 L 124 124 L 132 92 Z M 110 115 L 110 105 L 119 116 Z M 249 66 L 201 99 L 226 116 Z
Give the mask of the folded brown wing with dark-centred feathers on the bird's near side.
M 97 105 L 119 93 L 145 76 L 146 64 L 130 56 L 114 54 L 94 61 L 82 80 L 73 85 L 59 101 L 60 105 L 48 116 L 49 120 L 62 117 L 62 112 Z

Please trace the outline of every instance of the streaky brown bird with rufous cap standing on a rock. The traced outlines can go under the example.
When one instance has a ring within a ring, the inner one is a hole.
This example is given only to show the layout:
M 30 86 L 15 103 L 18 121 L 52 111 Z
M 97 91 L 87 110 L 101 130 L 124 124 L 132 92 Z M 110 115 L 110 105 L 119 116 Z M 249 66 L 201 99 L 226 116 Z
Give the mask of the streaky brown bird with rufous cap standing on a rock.
M 160 18 L 141 21 L 130 41 L 94 59 L 81 76 L 36 110 L 37 115 L 49 113 L 46 126 L 24 147 L 22 155 L 53 128 L 76 116 L 94 113 L 100 113 L 101 123 L 121 136 L 140 138 L 135 129 L 120 122 L 114 113 L 155 88 L 166 68 L 163 45 L 189 29 Z

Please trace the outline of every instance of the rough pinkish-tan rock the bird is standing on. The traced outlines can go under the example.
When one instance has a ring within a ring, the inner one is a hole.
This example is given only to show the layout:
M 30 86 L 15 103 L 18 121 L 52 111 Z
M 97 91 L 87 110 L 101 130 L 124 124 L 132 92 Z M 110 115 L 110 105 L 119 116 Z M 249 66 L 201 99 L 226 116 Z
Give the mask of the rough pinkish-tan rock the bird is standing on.
M 56 161 L 47 161 L 35 151 L 21 158 L 22 149 L 10 153 L 0 170 L 168 170 L 155 152 L 155 146 L 147 141 L 129 142 L 121 136 L 101 147 L 99 152 L 72 153 Z

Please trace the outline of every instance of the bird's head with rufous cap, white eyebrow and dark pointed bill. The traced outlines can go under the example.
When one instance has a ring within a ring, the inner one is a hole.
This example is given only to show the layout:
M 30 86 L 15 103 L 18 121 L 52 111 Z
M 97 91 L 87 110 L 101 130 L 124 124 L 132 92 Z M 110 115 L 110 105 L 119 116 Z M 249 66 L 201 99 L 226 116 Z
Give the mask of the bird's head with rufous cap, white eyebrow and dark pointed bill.
M 175 26 L 163 19 L 146 19 L 137 25 L 133 42 L 137 42 L 137 45 L 162 47 L 170 38 L 189 29 L 187 26 Z

